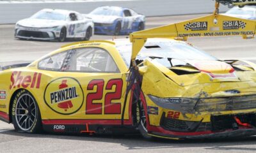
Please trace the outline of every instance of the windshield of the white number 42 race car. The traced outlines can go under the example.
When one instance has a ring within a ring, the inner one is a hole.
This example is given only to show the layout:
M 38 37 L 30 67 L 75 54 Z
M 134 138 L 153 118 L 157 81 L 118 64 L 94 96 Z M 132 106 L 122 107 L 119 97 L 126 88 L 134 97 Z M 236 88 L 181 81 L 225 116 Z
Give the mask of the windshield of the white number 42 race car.
M 31 18 L 45 19 L 45 20 L 66 20 L 66 15 L 53 11 L 38 11 Z

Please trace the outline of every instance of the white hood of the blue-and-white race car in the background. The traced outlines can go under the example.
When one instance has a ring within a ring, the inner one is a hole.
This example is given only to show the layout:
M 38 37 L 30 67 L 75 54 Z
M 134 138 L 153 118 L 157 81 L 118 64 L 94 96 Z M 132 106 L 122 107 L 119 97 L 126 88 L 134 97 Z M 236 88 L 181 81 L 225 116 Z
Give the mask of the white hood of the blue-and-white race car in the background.
M 92 18 L 93 22 L 100 23 L 100 24 L 112 24 L 118 16 L 111 16 L 111 15 L 84 15 L 85 17 Z

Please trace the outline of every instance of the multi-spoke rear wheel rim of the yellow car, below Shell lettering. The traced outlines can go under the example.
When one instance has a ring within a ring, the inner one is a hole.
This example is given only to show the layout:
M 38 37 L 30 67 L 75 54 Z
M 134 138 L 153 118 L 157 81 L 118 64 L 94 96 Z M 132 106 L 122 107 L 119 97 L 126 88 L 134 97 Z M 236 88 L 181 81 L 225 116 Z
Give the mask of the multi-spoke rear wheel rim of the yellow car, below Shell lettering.
M 15 107 L 15 119 L 20 129 L 28 131 L 35 124 L 36 103 L 29 94 L 23 94 L 17 100 Z

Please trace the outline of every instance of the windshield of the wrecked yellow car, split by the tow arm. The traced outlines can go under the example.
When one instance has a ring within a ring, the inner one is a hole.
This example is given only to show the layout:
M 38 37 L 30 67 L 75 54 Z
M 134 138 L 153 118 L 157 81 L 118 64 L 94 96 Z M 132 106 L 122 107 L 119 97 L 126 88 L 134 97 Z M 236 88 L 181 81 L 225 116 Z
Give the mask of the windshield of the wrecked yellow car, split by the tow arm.
M 129 67 L 131 62 L 132 45 L 120 45 L 117 48 L 127 64 L 127 67 Z M 136 59 L 145 60 L 148 57 L 155 59 L 164 66 L 167 66 L 166 63 L 168 62 L 168 59 L 180 61 L 218 60 L 216 57 L 213 57 L 212 55 L 209 55 L 206 52 L 182 41 L 146 43 L 137 55 Z M 170 65 L 170 62 L 168 62 L 168 64 Z

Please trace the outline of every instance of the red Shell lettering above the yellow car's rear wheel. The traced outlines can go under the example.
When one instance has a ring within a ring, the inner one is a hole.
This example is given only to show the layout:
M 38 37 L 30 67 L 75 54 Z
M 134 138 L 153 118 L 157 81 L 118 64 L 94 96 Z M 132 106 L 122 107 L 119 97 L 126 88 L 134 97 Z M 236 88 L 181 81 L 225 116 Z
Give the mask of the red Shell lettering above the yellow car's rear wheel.
M 15 88 L 40 88 L 41 73 L 33 73 L 33 75 L 22 75 L 21 71 L 13 71 L 11 76 L 10 89 Z

